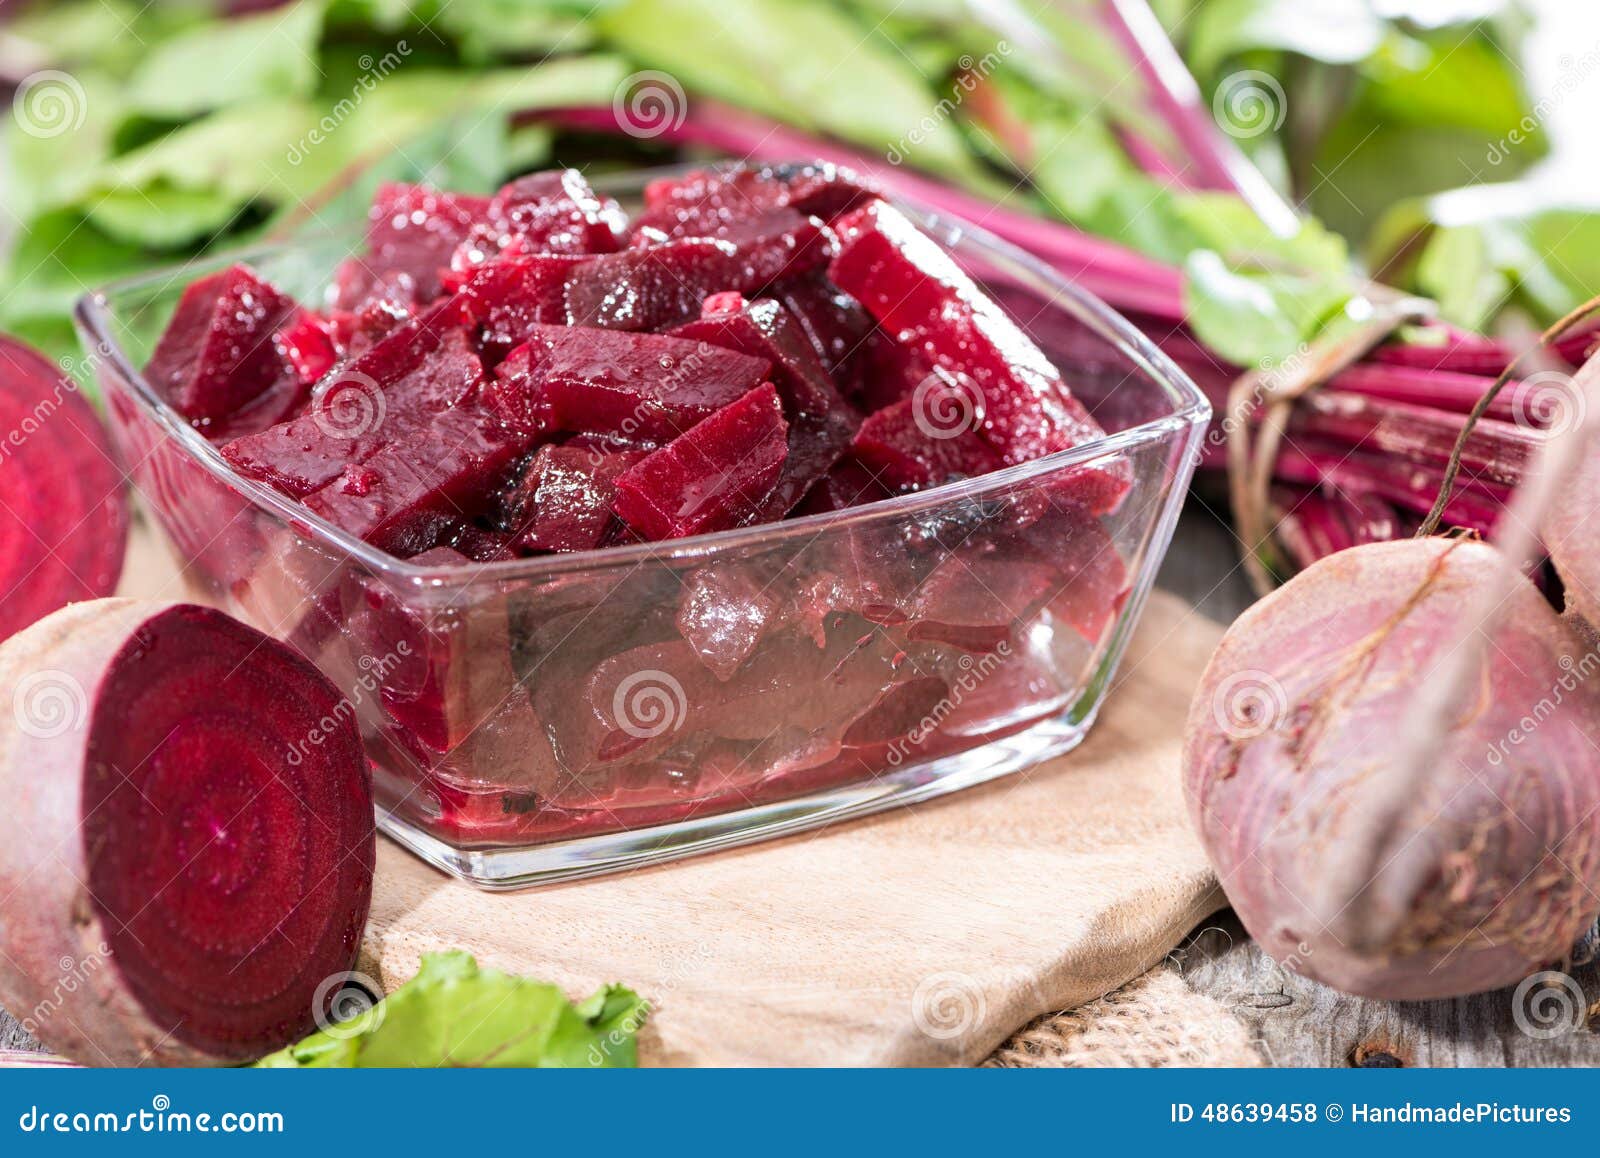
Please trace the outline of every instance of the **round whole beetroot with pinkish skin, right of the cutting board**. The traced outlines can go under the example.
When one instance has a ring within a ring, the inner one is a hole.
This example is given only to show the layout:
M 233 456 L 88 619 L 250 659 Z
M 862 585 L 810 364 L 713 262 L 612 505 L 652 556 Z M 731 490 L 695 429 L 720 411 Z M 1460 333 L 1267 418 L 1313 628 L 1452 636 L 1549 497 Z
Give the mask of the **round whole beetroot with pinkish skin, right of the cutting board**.
M 1504 581 L 1478 542 L 1355 547 L 1246 611 L 1213 656 L 1184 789 L 1235 910 L 1288 968 L 1392 1000 L 1475 993 L 1563 958 L 1594 920 L 1600 656 L 1520 577 L 1432 768 L 1374 814 L 1408 774 L 1419 689 L 1454 678 L 1464 614 Z M 1378 825 L 1392 851 L 1374 853 Z

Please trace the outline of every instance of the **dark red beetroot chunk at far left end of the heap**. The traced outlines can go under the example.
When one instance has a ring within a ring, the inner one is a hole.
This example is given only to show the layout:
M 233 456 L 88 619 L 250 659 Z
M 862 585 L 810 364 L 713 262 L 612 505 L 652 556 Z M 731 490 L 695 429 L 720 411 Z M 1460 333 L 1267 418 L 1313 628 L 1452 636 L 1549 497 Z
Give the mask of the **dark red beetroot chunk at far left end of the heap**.
M 203 277 L 184 290 L 144 374 L 184 417 L 227 417 L 288 373 L 272 334 L 294 310 L 248 266 Z

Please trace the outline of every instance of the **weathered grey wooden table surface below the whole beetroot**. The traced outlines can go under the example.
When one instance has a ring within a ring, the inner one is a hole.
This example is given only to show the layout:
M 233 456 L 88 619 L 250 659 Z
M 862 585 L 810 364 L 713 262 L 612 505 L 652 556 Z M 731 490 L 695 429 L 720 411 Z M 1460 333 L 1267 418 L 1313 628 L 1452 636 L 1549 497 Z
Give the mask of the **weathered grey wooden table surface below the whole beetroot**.
M 1198 499 L 1184 512 L 1160 584 L 1218 622 L 1251 603 L 1232 533 Z M 1278 968 L 1232 913 L 1205 921 L 1163 968 L 1232 1009 L 1275 1065 L 1600 1065 L 1600 1033 L 1530 1036 L 1509 990 L 1405 1004 L 1344 996 Z M 1600 969 L 1571 976 L 1600 1017 Z M 3 1049 L 38 1044 L 0 1012 Z

